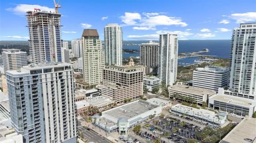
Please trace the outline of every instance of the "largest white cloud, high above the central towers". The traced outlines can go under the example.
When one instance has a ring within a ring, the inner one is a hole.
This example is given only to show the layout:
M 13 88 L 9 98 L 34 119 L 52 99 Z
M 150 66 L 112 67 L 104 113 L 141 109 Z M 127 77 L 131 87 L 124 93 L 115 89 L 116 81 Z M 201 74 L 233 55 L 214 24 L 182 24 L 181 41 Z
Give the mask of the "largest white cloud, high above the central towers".
M 160 15 L 161 14 L 161 15 Z M 169 17 L 162 15 L 162 13 L 129 13 L 125 12 L 123 16 L 120 16 L 121 20 L 126 26 L 140 26 L 140 27 L 151 27 L 156 26 L 181 26 L 186 27 L 188 24 L 182 22 L 181 18 Z

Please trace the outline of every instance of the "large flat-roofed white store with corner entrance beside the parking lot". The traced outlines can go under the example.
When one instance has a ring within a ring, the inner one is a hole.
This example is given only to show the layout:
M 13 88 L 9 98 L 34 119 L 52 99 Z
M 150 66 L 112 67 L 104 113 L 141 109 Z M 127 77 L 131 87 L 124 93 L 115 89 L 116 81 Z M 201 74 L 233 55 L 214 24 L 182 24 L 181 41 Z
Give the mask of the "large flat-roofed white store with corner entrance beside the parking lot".
M 102 116 L 98 117 L 95 124 L 107 132 L 118 129 L 119 133 L 123 134 L 134 125 L 148 120 L 150 115 L 157 116 L 161 112 L 162 106 L 145 100 L 136 100 L 102 112 Z

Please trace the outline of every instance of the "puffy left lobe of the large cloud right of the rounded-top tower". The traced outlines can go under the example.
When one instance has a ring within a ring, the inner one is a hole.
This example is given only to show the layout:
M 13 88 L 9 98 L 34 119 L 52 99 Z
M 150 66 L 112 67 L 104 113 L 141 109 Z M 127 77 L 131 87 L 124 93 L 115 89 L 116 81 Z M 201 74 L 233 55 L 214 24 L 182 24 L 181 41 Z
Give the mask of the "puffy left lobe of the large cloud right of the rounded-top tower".
M 126 25 L 131 26 L 137 24 L 135 20 L 140 20 L 141 15 L 139 13 L 125 12 L 124 16 L 120 16 L 120 18 Z

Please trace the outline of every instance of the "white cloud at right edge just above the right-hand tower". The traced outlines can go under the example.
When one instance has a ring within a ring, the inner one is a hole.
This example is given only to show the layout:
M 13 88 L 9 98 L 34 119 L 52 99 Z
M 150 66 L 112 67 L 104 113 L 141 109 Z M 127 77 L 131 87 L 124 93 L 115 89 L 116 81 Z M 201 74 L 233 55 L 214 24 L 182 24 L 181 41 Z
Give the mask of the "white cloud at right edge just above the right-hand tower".
M 234 13 L 231 14 L 230 18 L 236 20 L 236 23 L 256 21 L 256 12 Z

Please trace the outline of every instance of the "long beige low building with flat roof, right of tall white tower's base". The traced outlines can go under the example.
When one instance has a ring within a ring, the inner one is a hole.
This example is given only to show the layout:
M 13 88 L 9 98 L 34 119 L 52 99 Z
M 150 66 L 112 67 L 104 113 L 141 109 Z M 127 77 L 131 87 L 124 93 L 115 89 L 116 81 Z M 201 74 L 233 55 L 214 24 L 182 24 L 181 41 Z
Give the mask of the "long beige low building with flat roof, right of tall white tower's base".
M 185 85 L 175 85 L 169 87 L 169 97 L 190 97 L 199 105 L 202 105 L 203 102 L 207 102 L 209 97 L 215 94 L 216 92 L 214 90 L 199 87 L 191 87 Z

